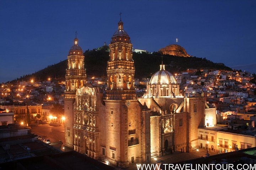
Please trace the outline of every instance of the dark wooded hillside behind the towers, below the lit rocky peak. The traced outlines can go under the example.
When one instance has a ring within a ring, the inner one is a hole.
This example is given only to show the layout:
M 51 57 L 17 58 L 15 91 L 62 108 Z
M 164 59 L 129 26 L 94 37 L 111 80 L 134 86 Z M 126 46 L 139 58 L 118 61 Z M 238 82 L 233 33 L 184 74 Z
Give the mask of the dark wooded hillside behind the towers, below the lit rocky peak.
M 109 60 L 109 52 L 104 50 L 91 50 L 84 53 L 85 68 L 87 77 L 106 77 L 107 61 Z M 206 58 L 197 57 L 178 57 L 171 55 L 163 55 L 161 53 L 133 53 L 135 65 L 135 78 L 150 78 L 153 73 L 160 69 L 160 64 L 166 65 L 165 69 L 171 73 L 184 72 L 188 68 L 193 69 L 220 69 L 231 70 L 222 63 L 213 63 Z M 36 73 L 25 75 L 18 80 L 46 80 L 48 77 L 65 80 L 65 71 L 67 68 L 67 60 L 57 64 L 48 66 Z

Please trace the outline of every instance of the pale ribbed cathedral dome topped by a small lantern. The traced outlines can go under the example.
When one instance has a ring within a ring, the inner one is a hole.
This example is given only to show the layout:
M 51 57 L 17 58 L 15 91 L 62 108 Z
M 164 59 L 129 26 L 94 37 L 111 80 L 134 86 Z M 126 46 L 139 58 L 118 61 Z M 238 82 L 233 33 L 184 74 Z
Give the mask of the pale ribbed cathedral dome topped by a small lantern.
M 177 84 L 177 81 L 170 72 L 165 70 L 165 65 L 161 64 L 160 70 L 153 74 L 149 84 Z

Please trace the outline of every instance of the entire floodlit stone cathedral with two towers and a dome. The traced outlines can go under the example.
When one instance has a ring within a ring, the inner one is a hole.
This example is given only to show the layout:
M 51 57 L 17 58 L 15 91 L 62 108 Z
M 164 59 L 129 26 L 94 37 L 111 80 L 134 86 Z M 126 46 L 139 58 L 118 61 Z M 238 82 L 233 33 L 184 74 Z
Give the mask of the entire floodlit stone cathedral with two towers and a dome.
M 109 47 L 103 96 L 97 87 L 86 85 L 83 52 L 74 39 L 65 75 L 64 145 L 122 167 L 198 148 L 197 128 L 205 124 L 205 98 L 183 97 L 163 63 L 145 95 L 137 97 L 132 43 L 121 19 Z

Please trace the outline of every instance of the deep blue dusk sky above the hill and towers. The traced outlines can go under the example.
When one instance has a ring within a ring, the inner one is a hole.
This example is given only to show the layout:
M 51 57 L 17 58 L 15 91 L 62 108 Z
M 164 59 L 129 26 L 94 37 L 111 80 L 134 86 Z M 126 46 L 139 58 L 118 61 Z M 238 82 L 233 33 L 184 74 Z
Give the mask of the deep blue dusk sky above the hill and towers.
M 134 49 L 178 44 L 189 55 L 256 73 L 253 0 L 1 0 L 0 82 L 65 60 L 75 31 L 83 51 L 109 44 L 119 12 Z

